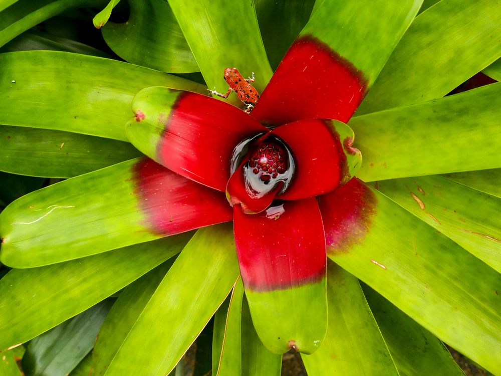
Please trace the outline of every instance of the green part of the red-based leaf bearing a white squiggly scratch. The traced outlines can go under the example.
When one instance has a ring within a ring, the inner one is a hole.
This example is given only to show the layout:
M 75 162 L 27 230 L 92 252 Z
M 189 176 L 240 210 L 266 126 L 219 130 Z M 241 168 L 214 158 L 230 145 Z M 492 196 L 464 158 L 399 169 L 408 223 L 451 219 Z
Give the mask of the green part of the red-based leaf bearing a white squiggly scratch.
M 0 260 L 29 268 L 162 237 L 148 230 L 139 210 L 132 169 L 140 160 L 61 181 L 12 203 L 0 213 Z

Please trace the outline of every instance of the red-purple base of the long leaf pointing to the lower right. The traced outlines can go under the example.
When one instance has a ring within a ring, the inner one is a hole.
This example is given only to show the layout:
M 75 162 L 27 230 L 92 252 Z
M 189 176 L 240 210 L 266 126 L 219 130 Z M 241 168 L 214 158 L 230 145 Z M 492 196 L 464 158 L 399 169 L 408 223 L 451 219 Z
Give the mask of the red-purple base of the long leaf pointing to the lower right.
M 318 198 L 329 254 L 349 252 L 352 245 L 363 242 L 376 215 L 376 201 L 371 189 L 357 178 Z

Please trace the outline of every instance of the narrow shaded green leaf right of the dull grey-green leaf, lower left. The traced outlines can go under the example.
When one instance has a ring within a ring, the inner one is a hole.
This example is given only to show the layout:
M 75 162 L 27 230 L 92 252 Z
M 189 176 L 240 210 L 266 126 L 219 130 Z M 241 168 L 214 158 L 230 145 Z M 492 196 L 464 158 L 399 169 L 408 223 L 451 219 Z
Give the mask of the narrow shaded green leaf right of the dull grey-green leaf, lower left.
M 106 372 L 156 288 L 173 263 L 173 258 L 131 283 L 120 294 L 99 331 L 92 357 L 93 375 Z

